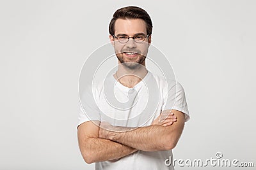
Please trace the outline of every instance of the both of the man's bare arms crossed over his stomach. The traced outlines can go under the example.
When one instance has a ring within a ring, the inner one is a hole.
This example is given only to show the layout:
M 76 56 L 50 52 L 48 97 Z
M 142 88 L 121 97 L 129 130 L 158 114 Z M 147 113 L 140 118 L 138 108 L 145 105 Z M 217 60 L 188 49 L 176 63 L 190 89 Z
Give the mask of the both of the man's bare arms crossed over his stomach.
M 171 150 L 177 145 L 184 127 L 184 113 L 166 110 L 168 117 L 159 116 L 152 125 L 124 132 L 107 131 L 99 127 L 99 121 L 79 125 L 77 136 L 79 148 L 86 163 L 116 160 L 137 150 L 154 152 Z M 163 113 L 161 113 L 162 115 Z M 104 125 L 103 125 L 104 126 Z M 108 126 L 109 125 L 105 125 Z M 126 127 L 111 127 L 113 129 Z

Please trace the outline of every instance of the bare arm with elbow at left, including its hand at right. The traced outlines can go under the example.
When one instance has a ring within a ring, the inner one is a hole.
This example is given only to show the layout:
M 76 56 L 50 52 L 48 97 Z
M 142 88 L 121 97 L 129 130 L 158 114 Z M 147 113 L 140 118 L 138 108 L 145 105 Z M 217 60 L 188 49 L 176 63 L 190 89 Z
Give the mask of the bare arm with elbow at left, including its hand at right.
M 154 127 L 167 127 L 172 125 L 173 122 L 176 122 L 176 117 L 172 114 L 166 117 L 161 114 L 161 116 L 157 117 L 156 120 L 154 120 L 154 122 L 152 123 Z M 92 162 L 116 160 L 125 157 L 126 155 L 129 155 L 131 153 L 134 153 L 138 150 L 131 146 L 127 146 L 116 141 L 111 141 L 107 138 L 104 139 L 102 135 L 106 135 L 110 131 L 106 131 L 106 129 L 100 128 L 104 126 L 104 124 L 100 124 L 100 127 L 99 124 L 99 121 L 88 121 L 79 125 L 79 127 L 77 128 L 79 148 L 86 163 L 90 164 Z M 109 124 L 106 125 L 108 125 L 109 127 Z M 128 131 L 131 130 L 131 128 L 115 127 L 115 131 L 124 130 Z

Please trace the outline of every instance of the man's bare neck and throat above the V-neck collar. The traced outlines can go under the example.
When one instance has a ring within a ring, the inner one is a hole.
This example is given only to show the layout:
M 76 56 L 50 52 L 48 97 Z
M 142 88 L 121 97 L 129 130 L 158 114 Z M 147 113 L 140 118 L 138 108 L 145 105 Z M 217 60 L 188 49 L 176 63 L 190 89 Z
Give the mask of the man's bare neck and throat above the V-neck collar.
M 147 73 L 148 71 L 144 66 L 129 69 L 122 64 L 119 64 L 115 78 L 125 87 L 132 88 L 138 84 L 147 75 Z

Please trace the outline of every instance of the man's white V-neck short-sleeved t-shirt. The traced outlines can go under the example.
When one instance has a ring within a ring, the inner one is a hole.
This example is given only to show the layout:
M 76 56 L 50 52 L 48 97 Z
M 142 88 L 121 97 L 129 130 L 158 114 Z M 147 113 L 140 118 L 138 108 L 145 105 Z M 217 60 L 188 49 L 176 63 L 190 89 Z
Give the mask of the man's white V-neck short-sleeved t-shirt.
M 90 120 L 109 122 L 122 127 L 143 127 L 151 125 L 163 110 L 179 110 L 189 120 L 184 89 L 176 81 L 167 83 L 163 78 L 150 73 L 133 88 L 128 88 L 108 76 L 93 88 L 86 88 L 81 95 L 79 123 Z M 104 90 L 105 89 L 105 90 Z M 92 90 L 91 92 L 88 90 Z M 112 93 L 111 93 L 112 92 Z M 77 126 L 78 126 L 77 125 Z M 157 138 L 157 136 L 156 136 Z M 138 150 L 116 162 L 96 162 L 95 169 L 174 169 L 166 166 L 172 150 L 144 152 Z

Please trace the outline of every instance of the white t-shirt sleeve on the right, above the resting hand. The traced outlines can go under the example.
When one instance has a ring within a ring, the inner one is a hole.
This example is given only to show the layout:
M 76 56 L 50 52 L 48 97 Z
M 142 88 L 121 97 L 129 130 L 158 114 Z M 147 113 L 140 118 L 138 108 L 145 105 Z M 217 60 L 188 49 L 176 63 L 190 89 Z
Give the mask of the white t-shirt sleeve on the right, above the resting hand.
M 179 82 L 175 82 L 172 87 L 164 89 L 164 110 L 179 110 L 185 115 L 185 122 L 190 119 L 188 104 L 182 85 Z

